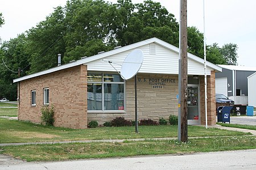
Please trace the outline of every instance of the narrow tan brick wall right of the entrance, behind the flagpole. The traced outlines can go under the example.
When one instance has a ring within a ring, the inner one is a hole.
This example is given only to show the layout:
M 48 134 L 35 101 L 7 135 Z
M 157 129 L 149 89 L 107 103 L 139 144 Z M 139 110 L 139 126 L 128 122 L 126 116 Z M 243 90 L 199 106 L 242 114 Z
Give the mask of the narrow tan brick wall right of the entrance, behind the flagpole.
M 205 125 L 204 76 L 200 76 L 201 125 Z M 215 71 L 207 76 L 207 122 L 216 125 Z

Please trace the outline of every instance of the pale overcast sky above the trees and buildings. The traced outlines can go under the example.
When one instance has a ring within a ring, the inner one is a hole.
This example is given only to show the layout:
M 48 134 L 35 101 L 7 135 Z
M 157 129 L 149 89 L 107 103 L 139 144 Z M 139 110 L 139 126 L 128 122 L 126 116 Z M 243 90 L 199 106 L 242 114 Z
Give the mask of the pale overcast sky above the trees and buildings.
M 44 20 L 53 7 L 64 6 L 67 0 L 0 0 L 5 24 L 0 28 L 2 40 L 10 40 Z M 110 0 L 109 0 L 110 1 Z M 116 0 L 110 2 L 117 2 Z M 133 0 L 133 3 L 143 0 Z M 155 0 L 179 20 L 180 0 Z M 205 0 L 205 35 L 207 44 L 217 42 L 238 45 L 238 65 L 256 67 L 256 1 Z M 203 32 L 203 0 L 188 0 L 188 26 Z

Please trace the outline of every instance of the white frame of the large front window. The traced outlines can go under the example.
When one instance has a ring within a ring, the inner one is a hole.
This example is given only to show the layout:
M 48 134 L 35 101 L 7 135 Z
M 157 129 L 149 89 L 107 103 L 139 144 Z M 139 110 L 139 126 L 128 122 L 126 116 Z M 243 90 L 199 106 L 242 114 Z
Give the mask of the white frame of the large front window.
M 89 72 L 88 74 L 101 74 L 101 82 L 90 82 L 90 81 L 87 81 L 87 83 L 97 83 L 97 84 L 101 84 L 101 110 L 89 110 L 88 109 L 88 113 L 126 113 L 126 80 L 122 79 L 122 76 L 121 76 L 121 79 L 123 80 L 123 82 L 109 82 L 109 81 L 105 81 L 104 82 L 104 75 L 105 74 L 118 74 L 118 73 L 111 73 L 111 72 Z M 88 76 L 87 74 L 87 76 Z M 118 74 L 119 75 L 119 74 Z M 88 80 L 88 79 L 87 79 Z M 122 110 L 107 110 L 107 109 L 104 109 L 104 85 L 105 84 L 123 84 L 123 109 Z

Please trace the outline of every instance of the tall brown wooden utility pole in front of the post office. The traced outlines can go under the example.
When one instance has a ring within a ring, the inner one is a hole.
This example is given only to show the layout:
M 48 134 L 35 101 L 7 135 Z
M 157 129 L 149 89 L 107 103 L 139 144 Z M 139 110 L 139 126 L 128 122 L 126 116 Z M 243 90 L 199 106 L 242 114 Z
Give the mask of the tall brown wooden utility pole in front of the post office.
M 181 118 L 181 142 L 188 141 L 188 38 L 187 38 L 187 0 L 181 1 L 180 29 L 181 29 L 181 96 L 180 96 L 180 118 Z

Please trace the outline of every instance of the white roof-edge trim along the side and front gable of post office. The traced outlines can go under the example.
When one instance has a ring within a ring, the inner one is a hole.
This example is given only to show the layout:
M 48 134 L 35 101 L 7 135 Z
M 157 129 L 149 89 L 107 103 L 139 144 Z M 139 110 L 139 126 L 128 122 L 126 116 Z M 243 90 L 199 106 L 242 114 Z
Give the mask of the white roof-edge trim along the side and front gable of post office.
M 97 54 L 97 55 L 92 56 L 92 57 L 82 58 L 82 59 L 79 59 L 79 60 L 71 62 L 71 63 L 67 63 L 67 64 L 64 64 L 64 65 L 61 65 L 61 66 L 56 66 L 56 67 L 53 67 L 53 68 L 48 69 L 48 70 L 40 71 L 38 73 L 34 73 L 34 74 L 31 74 L 31 75 L 26 75 L 26 76 L 23 76 L 21 78 L 14 79 L 13 82 L 14 83 L 15 82 L 20 82 L 22 80 L 34 78 L 36 76 L 40 76 L 40 75 L 44 75 L 44 74 L 49 74 L 49 73 L 53 73 L 55 71 L 59 71 L 59 70 L 67 69 L 67 68 L 70 68 L 70 67 L 86 64 L 86 63 L 95 61 L 97 59 L 103 59 L 105 57 L 112 56 L 114 54 L 125 52 L 126 50 L 130 50 L 130 49 L 134 49 L 134 48 L 139 48 L 140 46 L 147 45 L 147 44 L 150 44 L 152 42 L 155 42 L 156 44 L 159 44 L 159 45 L 163 46 L 164 48 L 170 49 L 173 52 L 179 53 L 179 48 L 177 48 L 176 46 L 168 44 L 167 42 L 162 41 L 160 39 L 152 38 L 152 39 L 140 41 L 140 42 L 137 42 L 137 43 L 134 43 L 134 44 L 131 44 L 131 45 L 123 46 L 123 47 L 118 48 L 118 49 L 113 49 L 113 50 L 111 50 L 109 52 Z M 192 59 L 193 61 L 196 61 L 198 63 L 201 63 L 202 65 L 204 65 L 204 59 L 202 59 L 200 57 L 197 57 L 197 56 L 195 56 L 195 55 L 193 55 L 191 53 L 188 53 L 188 58 Z M 206 62 L 206 64 L 207 64 L 208 67 L 212 68 L 213 70 L 222 71 L 222 68 L 220 66 L 214 65 L 213 63 L 210 63 L 208 61 Z

